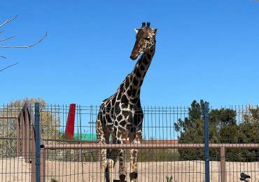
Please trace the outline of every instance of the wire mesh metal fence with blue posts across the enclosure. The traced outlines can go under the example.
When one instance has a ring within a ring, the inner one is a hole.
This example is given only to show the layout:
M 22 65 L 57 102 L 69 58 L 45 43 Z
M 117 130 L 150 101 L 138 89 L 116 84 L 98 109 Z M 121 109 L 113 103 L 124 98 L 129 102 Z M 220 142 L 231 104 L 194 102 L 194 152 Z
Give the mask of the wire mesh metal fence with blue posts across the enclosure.
M 169 181 L 171 176 L 172 181 L 239 181 L 242 172 L 259 181 L 258 106 L 207 110 L 203 102 L 194 102 L 143 111 L 141 144 L 101 145 L 95 123 L 99 106 L 76 106 L 75 134 L 69 140 L 64 137 L 69 106 L 0 106 L 0 181 L 101 181 L 102 148 L 125 149 L 127 181 L 131 148 L 139 149 L 138 181 Z M 118 169 L 116 162 L 117 180 Z

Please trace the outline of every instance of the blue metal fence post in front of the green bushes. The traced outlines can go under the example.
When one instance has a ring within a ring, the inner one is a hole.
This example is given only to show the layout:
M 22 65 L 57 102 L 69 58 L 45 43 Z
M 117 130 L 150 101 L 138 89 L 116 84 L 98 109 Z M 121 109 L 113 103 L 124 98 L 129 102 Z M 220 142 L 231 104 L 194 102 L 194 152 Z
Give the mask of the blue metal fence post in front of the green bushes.
M 209 102 L 204 103 L 204 148 L 205 148 L 205 181 L 209 182 Z

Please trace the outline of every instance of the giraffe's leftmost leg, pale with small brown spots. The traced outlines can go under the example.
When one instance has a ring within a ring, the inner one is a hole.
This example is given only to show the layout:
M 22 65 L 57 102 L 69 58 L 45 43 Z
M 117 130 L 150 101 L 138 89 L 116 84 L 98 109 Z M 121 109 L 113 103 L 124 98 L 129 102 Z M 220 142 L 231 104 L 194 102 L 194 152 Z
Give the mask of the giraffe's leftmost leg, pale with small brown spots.
M 97 120 L 97 140 L 98 144 L 102 145 L 105 144 L 105 137 L 104 137 L 104 130 L 101 125 L 101 121 Z M 101 149 L 100 151 L 100 165 L 101 165 L 101 182 L 104 182 L 105 178 L 105 169 L 107 166 L 107 160 L 106 160 L 106 149 Z

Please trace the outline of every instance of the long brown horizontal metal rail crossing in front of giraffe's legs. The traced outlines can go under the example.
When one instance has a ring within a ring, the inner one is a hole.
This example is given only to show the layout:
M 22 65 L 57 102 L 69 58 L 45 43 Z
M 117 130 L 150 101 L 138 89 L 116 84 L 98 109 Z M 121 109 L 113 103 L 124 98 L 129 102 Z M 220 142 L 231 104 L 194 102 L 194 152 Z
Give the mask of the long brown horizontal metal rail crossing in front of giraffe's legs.
M 259 148 L 259 144 L 209 144 L 210 148 Z M 46 144 L 41 149 L 204 148 L 204 144 Z

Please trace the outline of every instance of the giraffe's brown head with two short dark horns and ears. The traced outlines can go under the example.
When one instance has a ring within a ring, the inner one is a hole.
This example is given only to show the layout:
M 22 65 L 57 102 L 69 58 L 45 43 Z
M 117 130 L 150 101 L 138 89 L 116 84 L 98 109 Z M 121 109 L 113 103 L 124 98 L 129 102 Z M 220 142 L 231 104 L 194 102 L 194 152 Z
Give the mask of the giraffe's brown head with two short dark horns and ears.
M 151 29 L 151 23 L 142 23 L 140 29 L 135 29 L 136 31 L 136 42 L 130 55 L 130 59 L 135 60 L 139 55 L 146 52 L 149 48 L 155 45 L 155 34 L 158 29 Z

